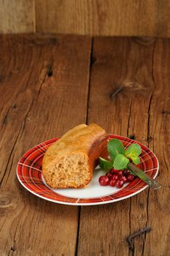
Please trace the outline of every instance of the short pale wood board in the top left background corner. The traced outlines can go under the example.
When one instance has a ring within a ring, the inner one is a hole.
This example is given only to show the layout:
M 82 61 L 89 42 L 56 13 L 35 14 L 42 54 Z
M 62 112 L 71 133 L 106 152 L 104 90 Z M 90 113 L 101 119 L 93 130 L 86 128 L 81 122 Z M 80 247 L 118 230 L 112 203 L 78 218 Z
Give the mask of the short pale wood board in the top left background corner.
M 0 0 L 0 33 L 35 32 L 34 0 Z

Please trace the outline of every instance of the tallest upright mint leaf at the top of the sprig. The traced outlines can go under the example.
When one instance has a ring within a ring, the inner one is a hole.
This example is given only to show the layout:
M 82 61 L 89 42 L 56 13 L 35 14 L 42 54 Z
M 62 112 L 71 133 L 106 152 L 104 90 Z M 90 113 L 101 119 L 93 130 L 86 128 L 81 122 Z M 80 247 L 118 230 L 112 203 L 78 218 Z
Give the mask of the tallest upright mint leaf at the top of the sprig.
M 112 160 L 115 160 L 117 154 L 125 154 L 123 143 L 117 139 L 109 140 L 107 149 Z

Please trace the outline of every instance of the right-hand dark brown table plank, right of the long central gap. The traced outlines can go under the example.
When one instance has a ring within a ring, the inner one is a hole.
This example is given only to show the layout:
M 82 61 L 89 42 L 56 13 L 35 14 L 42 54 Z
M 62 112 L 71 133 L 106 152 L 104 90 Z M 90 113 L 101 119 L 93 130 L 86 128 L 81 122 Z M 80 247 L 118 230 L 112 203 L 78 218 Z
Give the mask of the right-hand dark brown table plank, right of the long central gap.
M 160 161 L 158 191 L 127 200 L 82 207 L 78 255 L 169 255 L 169 56 L 170 40 L 95 37 L 90 72 L 88 122 L 150 146 Z M 123 90 L 113 99 L 110 94 Z M 125 239 L 135 238 L 134 252 Z

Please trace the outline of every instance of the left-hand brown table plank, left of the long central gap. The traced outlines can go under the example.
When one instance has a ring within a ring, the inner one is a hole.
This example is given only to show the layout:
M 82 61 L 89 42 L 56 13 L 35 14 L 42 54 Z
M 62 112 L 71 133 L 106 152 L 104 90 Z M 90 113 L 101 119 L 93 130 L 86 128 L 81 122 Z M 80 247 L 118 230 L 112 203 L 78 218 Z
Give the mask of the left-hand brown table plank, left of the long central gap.
M 0 42 L 0 255 L 74 255 L 78 208 L 35 197 L 15 170 L 29 148 L 86 121 L 90 38 Z

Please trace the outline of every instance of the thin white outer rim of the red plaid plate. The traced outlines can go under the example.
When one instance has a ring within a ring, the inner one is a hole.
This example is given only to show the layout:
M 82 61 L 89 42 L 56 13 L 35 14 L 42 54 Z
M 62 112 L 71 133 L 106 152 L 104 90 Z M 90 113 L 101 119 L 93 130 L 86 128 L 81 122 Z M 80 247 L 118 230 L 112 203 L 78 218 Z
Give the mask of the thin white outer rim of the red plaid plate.
M 131 138 L 128 138 L 128 137 L 125 137 L 125 136 L 122 136 L 122 135 L 107 134 L 107 136 L 108 136 L 108 137 L 109 137 L 109 136 L 118 136 L 118 137 L 120 137 L 120 138 L 125 138 L 126 140 L 129 139 L 129 140 L 131 140 L 131 141 L 134 141 L 134 142 L 136 142 L 136 143 L 141 144 L 142 146 L 144 146 L 145 148 L 147 148 L 149 151 L 151 151 L 152 154 L 154 155 L 155 159 L 156 159 L 156 162 L 158 163 L 158 167 L 157 167 L 157 170 L 156 170 L 156 172 L 155 172 L 155 175 L 152 176 L 152 177 L 155 178 L 155 177 L 158 175 L 158 171 L 159 171 L 159 162 L 158 162 L 158 158 L 156 157 L 155 153 L 154 153 L 150 148 L 148 148 L 147 146 L 145 146 L 144 144 L 140 143 L 140 142 L 137 141 L 137 140 L 133 140 L 133 139 L 131 139 Z M 50 140 L 58 140 L 58 138 L 51 138 Z M 45 141 L 43 141 L 42 143 L 47 143 L 47 142 L 49 142 L 50 140 L 45 140 Z M 42 143 L 39 143 L 39 144 L 37 144 L 36 146 L 39 146 L 39 145 L 42 144 Z M 34 146 L 34 147 L 28 149 L 28 151 L 33 150 L 36 146 Z M 28 153 L 28 151 L 26 151 L 26 153 Z M 25 153 L 25 154 L 26 154 L 26 153 Z M 25 154 L 23 154 L 23 156 L 24 156 Z M 20 159 L 22 159 L 23 156 L 20 157 Z M 19 161 L 18 161 L 18 165 L 20 165 L 20 159 L 19 159 Z M 144 187 L 142 187 L 141 189 L 137 190 L 136 192 L 133 192 L 131 195 L 125 195 L 124 197 L 119 197 L 119 198 L 115 198 L 115 199 L 112 199 L 112 200 L 106 200 L 106 201 L 101 201 L 101 202 L 96 202 L 96 203 L 95 203 L 95 202 L 93 202 L 93 203 L 71 203 L 71 202 L 69 203 L 69 202 L 63 202 L 63 201 L 54 200 L 54 199 L 50 199 L 50 198 L 48 198 L 48 197 L 44 197 L 44 196 L 42 196 L 42 195 L 39 195 L 39 194 L 37 194 L 36 192 L 34 192 L 34 191 L 32 191 L 31 189 L 29 189 L 28 187 L 26 187 L 26 185 L 23 184 L 23 182 L 20 180 L 20 177 L 19 177 L 19 175 L 18 175 L 18 165 L 17 165 L 17 168 L 16 168 L 16 173 L 17 173 L 18 181 L 20 182 L 20 184 L 21 184 L 26 190 L 28 190 L 28 192 L 31 192 L 31 194 L 33 194 L 33 195 L 36 195 L 36 197 L 42 198 L 42 199 L 47 200 L 47 201 L 50 201 L 50 202 L 52 202 L 52 203 L 59 203 L 59 204 L 62 204 L 62 205 L 68 205 L 68 206 L 96 206 L 96 205 L 102 205 L 102 204 L 107 204 L 107 203 L 115 203 L 115 202 L 118 202 L 118 201 L 121 201 L 121 200 L 125 200 L 125 199 L 127 199 L 127 198 L 129 198 L 129 197 L 133 197 L 134 195 L 139 194 L 139 193 L 142 192 L 144 189 L 147 189 L 147 187 L 149 187 L 149 186 L 146 184 Z M 42 181 L 42 182 L 43 182 L 43 181 Z M 43 182 L 43 184 L 44 184 L 44 182 Z M 96 197 L 96 198 L 98 198 L 98 197 Z

